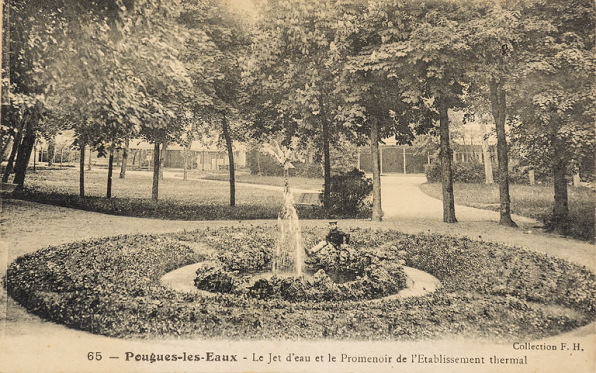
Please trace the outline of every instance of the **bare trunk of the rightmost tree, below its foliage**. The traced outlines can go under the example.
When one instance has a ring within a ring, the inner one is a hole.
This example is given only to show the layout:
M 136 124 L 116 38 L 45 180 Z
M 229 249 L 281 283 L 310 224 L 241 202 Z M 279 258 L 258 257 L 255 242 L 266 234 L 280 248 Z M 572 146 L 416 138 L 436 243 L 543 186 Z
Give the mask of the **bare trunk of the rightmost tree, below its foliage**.
M 555 187 L 555 204 L 549 229 L 566 234 L 569 230 L 569 197 L 567 194 L 567 158 L 565 157 L 565 141 L 557 132 L 551 135 L 553 146 L 553 183 Z

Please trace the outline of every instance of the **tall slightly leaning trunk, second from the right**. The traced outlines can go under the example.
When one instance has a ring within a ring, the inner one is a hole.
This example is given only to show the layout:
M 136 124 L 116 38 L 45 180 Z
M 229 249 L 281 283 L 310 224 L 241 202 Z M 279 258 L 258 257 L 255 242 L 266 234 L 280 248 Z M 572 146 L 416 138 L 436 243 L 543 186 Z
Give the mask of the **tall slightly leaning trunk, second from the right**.
M 497 129 L 497 159 L 499 161 L 499 200 L 500 224 L 517 227 L 511 219 L 511 200 L 509 198 L 509 151 L 505 136 L 505 119 L 507 118 L 507 104 L 505 89 L 495 78 L 490 81 L 490 102 L 493 118 Z

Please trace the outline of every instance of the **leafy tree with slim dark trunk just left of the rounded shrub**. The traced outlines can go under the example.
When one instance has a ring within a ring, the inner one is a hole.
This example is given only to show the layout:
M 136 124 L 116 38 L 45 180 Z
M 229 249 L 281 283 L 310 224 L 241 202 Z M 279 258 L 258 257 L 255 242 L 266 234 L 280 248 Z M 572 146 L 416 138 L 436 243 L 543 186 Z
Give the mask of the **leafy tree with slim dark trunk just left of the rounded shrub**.
M 342 22 L 350 21 L 339 1 L 271 1 L 262 10 L 247 63 L 256 133 L 283 133 L 315 143 L 324 168 L 323 205 L 328 207 L 330 146 L 343 131 L 335 120 L 337 88 L 345 57 L 338 48 Z

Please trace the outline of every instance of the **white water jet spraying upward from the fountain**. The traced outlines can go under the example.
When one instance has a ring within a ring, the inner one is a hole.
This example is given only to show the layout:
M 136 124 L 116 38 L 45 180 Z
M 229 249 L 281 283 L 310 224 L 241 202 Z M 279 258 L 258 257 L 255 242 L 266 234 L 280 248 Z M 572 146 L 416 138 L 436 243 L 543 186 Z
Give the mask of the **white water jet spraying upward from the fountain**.
M 292 152 L 289 148 L 282 148 L 277 142 L 266 144 L 265 150 L 277 159 L 284 167 L 285 186 L 283 191 L 284 204 L 277 218 L 279 226 L 279 238 L 276 243 L 272 272 L 274 274 L 302 275 L 303 253 L 302 233 L 298 214 L 294 207 L 294 197 L 290 191 L 289 170 L 292 168 L 290 162 Z

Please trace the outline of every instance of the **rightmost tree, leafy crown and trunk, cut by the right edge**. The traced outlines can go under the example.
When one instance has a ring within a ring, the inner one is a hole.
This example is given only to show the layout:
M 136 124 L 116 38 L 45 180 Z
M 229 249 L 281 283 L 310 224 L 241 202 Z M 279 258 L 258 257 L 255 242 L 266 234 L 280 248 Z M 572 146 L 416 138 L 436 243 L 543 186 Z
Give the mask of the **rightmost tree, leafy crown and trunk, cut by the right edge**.
M 523 17 L 533 32 L 515 75 L 514 135 L 527 156 L 549 163 L 555 200 L 548 228 L 566 233 L 566 176 L 594 152 L 596 11 L 589 1 L 545 0 L 532 3 Z

